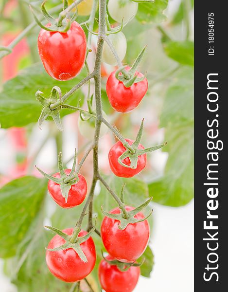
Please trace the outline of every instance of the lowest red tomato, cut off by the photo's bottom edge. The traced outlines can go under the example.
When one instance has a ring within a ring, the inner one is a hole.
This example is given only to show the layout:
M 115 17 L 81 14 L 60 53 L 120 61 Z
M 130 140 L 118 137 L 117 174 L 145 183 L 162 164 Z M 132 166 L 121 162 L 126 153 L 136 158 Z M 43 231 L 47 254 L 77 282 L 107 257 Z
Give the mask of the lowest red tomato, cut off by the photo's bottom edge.
M 113 260 L 106 256 L 107 260 Z M 104 259 L 99 265 L 99 280 L 105 292 L 132 292 L 140 277 L 140 267 L 131 267 L 126 272 L 121 272 L 117 266 L 110 265 Z

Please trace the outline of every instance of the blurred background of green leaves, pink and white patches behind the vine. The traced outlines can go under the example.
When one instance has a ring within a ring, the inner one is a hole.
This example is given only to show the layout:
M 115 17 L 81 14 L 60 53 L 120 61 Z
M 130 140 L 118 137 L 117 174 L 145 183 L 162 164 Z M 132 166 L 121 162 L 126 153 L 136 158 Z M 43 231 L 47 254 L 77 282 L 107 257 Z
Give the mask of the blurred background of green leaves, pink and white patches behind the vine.
M 8 46 L 33 21 L 28 2 L 37 7 L 38 12 L 40 0 L 0 0 L 0 45 Z M 60 0 L 50 0 L 47 7 L 52 9 L 60 3 Z M 127 39 L 124 63 L 132 64 L 141 48 L 148 45 L 140 65 L 140 71 L 146 73 L 149 82 L 147 95 L 132 113 L 115 113 L 105 94 L 106 78 L 114 68 L 103 63 L 103 109 L 108 120 L 115 123 L 125 137 L 134 139 L 144 117 L 142 144 L 152 146 L 163 141 L 168 143 L 163 150 L 149 154 L 146 169 L 135 181 L 127 184 L 129 204 L 137 205 L 148 195 L 154 198 L 154 212 L 150 219 L 150 250 L 146 254 L 148 262 L 143 264 L 141 270 L 144 276 L 140 277 L 135 291 L 192 292 L 193 1 L 159 0 L 157 4 L 158 11 L 151 13 L 151 19 L 140 14 L 123 29 Z M 85 19 L 79 16 L 77 21 L 80 23 Z M 112 23 L 115 25 L 114 21 Z M 0 60 L 0 292 L 69 291 L 69 286 L 60 286 L 60 281 L 53 279 L 46 269 L 44 247 L 50 234 L 40 230 L 44 223 L 66 228 L 73 224 L 77 212 L 81 210 L 59 210 L 49 196 L 45 197 L 45 204 L 37 199 L 39 202 L 36 205 L 31 201 L 28 204 L 23 200 L 18 202 L 17 194 L 12 200 L 7 198 L 7 183 L 12 182 L 16 193 L 18 188 L 18 197 L 20 195 L 26 199 L 27 196 L 29 200 L 30 194 L 22 195 L 26 189 L 18 187 L 17 179 L 27 175 L 40 178 L 35 164 L 47 173 L 54 173 L 59 150 L 63 151 L 65 165 L 70 167 L 74 148 L 78 149 L 80 160 L 91 136 L 87 134 L 88 125 L 79 129 L 78 113 L 64 113 L 63 134 L 56 130 L 51 120 L 43 124 L 42 131 L 37 127 L 35 122 L 41 108 L 35 100 L 35 91 L 41 90 L 48 96 L 54 85 L 60 86 L 63 92 L 69 91 L 85 74 L 83 71 L 75 79 L 64 82 L 64 85 L 53 81 L 40 64 L 36 47 L 38 32 L 36 26 L 18 42 L 12 54 Z M 96 49 L 94 36 L 91 47 L 92 53 L 88 59 L 90 69 L 93 68 Z M 88 88 L 83 87 L 74 94 L 72 102 L 79 102 L 86 108 L 84 97 L 87 91 Z M 111 133 L 105 133 L 101 138 L 99 164 L 102 173 L 109 176 L 110 184 L 119 187 L 122 181 L 117 181 L 111 175 L 107 164 L 107 153 L 114 143 L 115 138 Z M 81 171 L 88 184 L 92 175 L 91 164 L 92 157 L 89 156 Z M 20 184 L 23 185 L 23 181 Z M 34 184 L 31 187 L 35 189 Z M 42 184 L 41 188 L 46 194 Z M 95 201 L 98 219 L 102 219 L 99 208 L 104 192 L 98 184 Z M 108 200 L 105 199 L 108 208 L 115 205 L 112 199 Z M 22 210 L 20 204 L 24 213 L 17 214 L 18 210 Z M 29 210 L 35 215 L 24 215 Z M 6 227 L 3 228 L 3 225 Z M 97 286 L 95 273 L 91 276 L 94 287 Z

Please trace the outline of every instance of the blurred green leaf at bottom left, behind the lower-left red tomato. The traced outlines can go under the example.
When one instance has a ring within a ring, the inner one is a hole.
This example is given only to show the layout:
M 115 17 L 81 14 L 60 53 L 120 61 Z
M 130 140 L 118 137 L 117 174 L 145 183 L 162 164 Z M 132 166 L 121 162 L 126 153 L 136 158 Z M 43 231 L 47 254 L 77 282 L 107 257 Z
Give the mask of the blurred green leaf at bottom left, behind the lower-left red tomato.
M 40 292 L 69 292 L 72 284 L 55 278 L 45 261 L 45 247 L 54 235 L 39 227 L 35 240 L 5 261 L 4 272 L 21 292 L 37 292 L 37 287 Z

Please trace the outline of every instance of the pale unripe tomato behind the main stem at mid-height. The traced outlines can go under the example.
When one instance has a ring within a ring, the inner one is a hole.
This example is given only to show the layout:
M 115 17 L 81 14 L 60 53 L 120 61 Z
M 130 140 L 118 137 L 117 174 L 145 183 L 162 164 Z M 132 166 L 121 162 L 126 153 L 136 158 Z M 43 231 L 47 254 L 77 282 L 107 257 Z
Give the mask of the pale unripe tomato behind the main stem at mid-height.
M 107 120 L 106 114 L 103 112 L 103 116 L 105 120 Z M 94 136 L 94 129 L 95 129 L 95 118 L 91 117 L 90 119 L 83 121 L 80 117 L 78 117 L 78 128 L 79 132 L 84 138 L 88 140 L 92 140 Z M 101 125 L 101 133 L 100 136 L 104 136 L 108 131 L 108 128 L 105 124 L 102 123 Z

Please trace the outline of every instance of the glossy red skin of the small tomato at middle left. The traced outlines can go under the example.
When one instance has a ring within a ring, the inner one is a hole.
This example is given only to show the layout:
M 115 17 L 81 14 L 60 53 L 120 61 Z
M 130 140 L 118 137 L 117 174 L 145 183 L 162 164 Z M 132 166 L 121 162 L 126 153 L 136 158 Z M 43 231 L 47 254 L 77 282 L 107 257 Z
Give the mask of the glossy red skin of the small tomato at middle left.
M 70 174 L 71 169 L 65 169 L 66 174 Z M 55 178 L 60 178 L 59 172 L 53 175 Z M 62 208 L 73 208 L 80 205 L 86 198 L 87 194 L 87 182 L 84 176 L 78 174 L 79 181 L 71 185 L 67 203 L 61 193 L 60 185 L 49 180 L 48 191 L 53 200 Z

